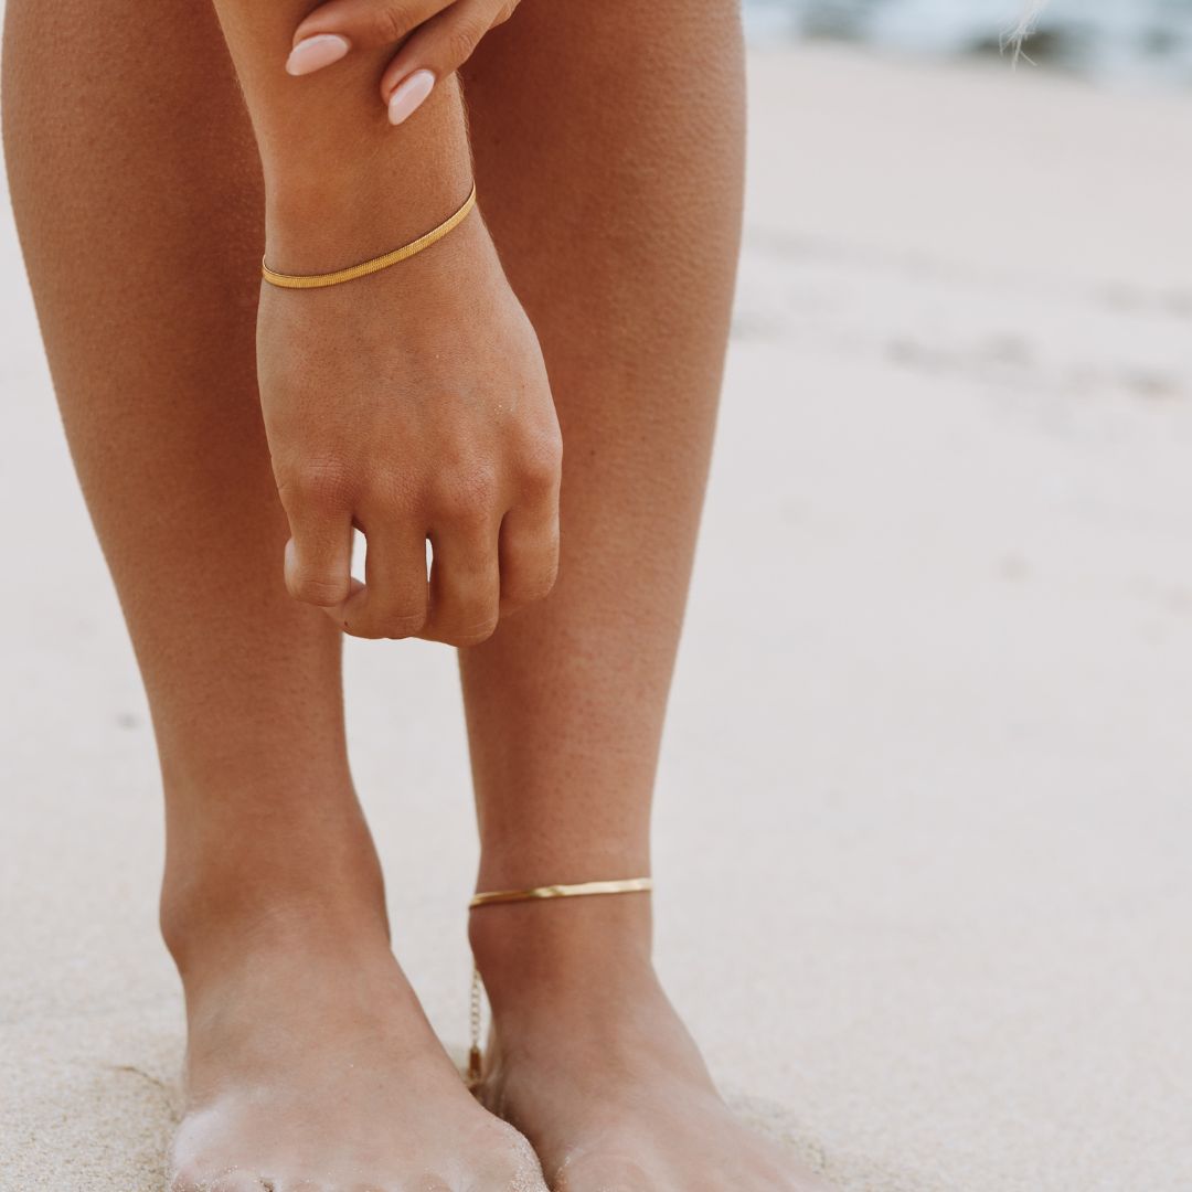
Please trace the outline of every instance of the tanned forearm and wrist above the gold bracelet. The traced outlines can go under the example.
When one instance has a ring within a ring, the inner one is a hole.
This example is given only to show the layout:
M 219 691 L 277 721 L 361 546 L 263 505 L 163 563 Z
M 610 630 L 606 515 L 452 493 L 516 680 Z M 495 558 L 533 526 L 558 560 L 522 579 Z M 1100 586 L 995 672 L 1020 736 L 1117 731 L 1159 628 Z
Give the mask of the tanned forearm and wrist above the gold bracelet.
M 395 128 L 378 93 L 385 50 L 292 77 L 286 56 L 310 0 L 215 6 L 261 154 L 271 265 L 350 265 L 420 235 L 464 200 L 471 164 L 454 76 Z

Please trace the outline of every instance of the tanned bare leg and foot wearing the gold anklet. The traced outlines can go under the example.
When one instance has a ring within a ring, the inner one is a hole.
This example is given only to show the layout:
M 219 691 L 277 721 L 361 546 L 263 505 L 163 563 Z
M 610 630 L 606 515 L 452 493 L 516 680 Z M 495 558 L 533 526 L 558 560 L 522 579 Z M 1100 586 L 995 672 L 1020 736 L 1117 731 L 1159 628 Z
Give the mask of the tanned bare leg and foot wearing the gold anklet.
M 648 871 L 740 223 L 738 15 L 699 8 L 524 0 L 465 72 L 564 439 L 558 585 L 461 654 L 485 889 Z M 471 930 L 486 1093 L 555 1188 L 812 1187 L 716 1097 L 654 979 L 647 896 L 491 906 Z

